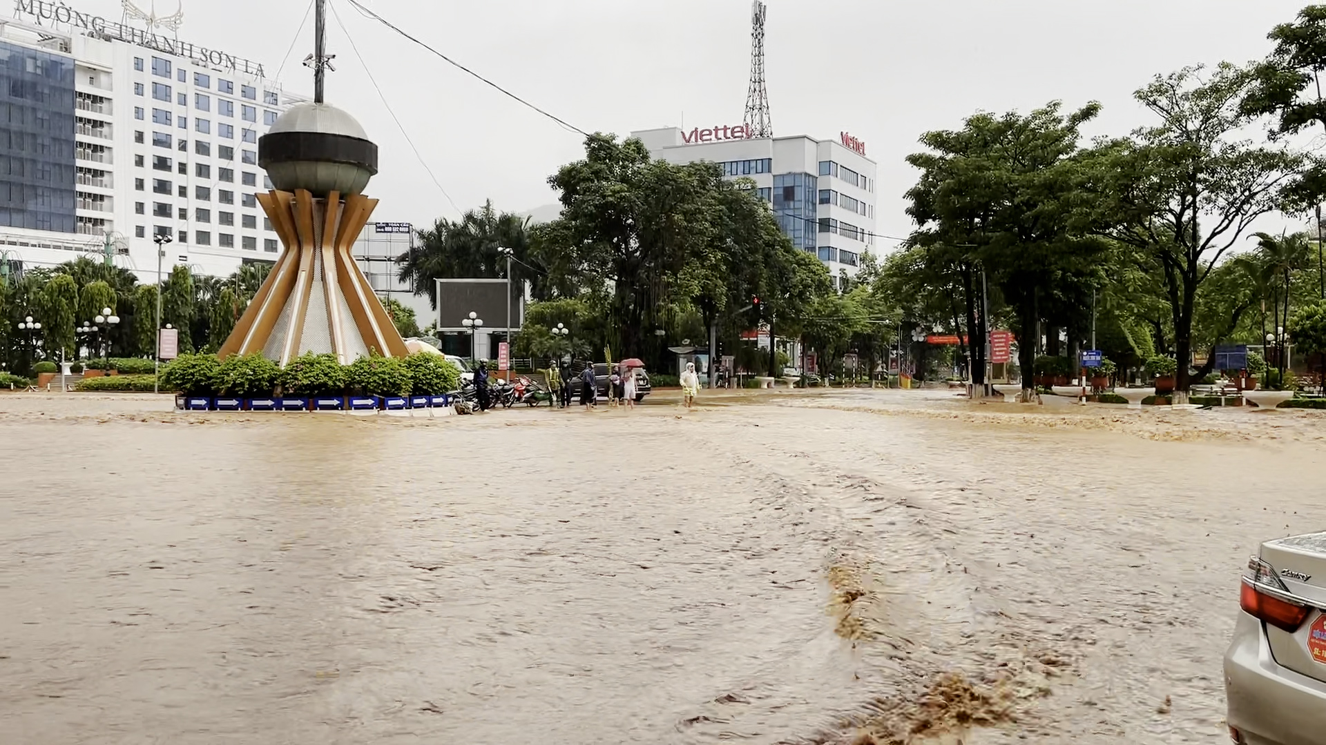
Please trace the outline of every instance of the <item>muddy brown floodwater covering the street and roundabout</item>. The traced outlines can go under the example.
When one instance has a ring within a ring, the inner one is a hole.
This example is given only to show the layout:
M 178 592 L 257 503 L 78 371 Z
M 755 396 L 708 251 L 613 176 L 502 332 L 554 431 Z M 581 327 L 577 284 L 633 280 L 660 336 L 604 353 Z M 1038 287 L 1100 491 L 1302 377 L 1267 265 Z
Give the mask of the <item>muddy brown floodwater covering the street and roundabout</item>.
M 0 396 L 0 742 L 1219 742 L 1326 416 Z

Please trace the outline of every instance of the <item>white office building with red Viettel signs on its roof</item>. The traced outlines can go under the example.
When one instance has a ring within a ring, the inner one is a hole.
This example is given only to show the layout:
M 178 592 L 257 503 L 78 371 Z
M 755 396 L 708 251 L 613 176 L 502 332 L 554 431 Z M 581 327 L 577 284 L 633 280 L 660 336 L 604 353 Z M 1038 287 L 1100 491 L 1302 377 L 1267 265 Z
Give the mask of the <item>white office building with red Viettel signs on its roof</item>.
M 875 162 L 847 133 L 751 138 L 744 125 L 662 127 L 631 133 L 654 158 L 709 160 L 729 178 L 749 178 L 793 245 L 814 253 L 837 281 L 854 276 L 875 233 Z

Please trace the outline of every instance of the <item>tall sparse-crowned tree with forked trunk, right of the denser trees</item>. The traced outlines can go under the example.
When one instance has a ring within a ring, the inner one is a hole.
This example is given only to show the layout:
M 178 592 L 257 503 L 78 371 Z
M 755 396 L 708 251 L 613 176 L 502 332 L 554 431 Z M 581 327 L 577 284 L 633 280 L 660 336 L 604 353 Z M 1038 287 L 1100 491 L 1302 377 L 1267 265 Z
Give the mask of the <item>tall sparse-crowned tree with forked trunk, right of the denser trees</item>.
M 1242 139 L 1253 115 L 1241 101 L 1253 76 L 1229 64 L 1209 78 L 1185 68 L 1136 91 L 1159 123 L 1093 154 L 1097 229 L 1134 251 L 1164 280 L 1176 359 L 1191 359 L 1203 282 L 1260 216 L 1285 207 L 1306 159 Z M 1188 365 L 1176 390 L 1191 384 Z

